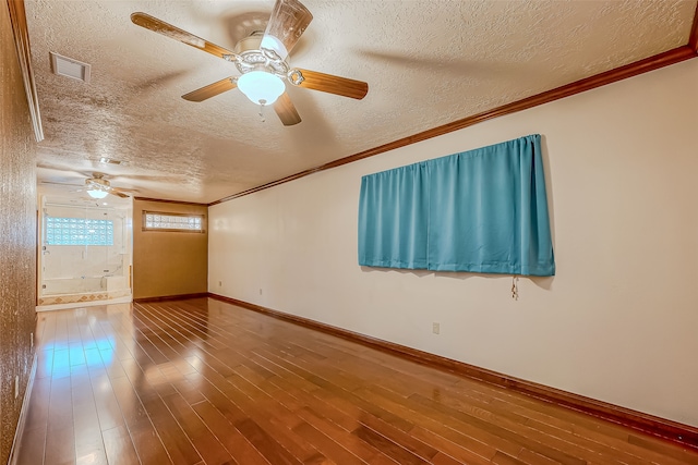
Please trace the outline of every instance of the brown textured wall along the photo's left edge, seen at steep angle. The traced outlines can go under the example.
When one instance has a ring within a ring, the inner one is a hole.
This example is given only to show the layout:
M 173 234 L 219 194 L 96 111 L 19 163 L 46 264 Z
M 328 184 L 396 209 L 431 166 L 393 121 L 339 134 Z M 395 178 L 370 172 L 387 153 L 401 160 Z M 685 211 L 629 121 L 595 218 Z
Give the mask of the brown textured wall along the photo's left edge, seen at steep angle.
M 0 3 L 0 463 L 7 463 L 36 327 L 36 143 L 7 2 Z

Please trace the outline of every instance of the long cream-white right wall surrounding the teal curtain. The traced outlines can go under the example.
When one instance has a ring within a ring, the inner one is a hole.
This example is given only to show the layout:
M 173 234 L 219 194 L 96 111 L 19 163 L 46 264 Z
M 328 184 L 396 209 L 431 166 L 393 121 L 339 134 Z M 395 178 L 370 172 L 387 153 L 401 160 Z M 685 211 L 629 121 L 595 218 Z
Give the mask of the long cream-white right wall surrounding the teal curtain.
M 698 426 L 697 121 L 691 60 L 213 206 L 208 289 Z M 556 277 L 357 265 L 363 174 L 532 133 Z

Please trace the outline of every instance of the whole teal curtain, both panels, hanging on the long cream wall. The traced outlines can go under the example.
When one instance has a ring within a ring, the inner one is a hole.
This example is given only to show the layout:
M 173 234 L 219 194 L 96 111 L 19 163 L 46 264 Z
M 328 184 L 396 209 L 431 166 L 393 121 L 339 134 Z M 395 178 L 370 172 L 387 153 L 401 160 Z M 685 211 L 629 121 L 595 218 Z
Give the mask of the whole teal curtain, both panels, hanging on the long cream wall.
M 555 274 L 540 135 L 363 176 L 359 264 Z

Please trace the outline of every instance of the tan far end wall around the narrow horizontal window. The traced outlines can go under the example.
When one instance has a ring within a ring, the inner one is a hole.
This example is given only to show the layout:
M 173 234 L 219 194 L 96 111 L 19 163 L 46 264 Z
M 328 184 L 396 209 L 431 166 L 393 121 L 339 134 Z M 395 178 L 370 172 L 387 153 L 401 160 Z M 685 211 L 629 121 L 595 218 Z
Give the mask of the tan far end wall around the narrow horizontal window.
M 207 207 L 133 201 L 133 298 L 206 292 L 208 232 L 143 231 L 144 210 L 206 215 Z

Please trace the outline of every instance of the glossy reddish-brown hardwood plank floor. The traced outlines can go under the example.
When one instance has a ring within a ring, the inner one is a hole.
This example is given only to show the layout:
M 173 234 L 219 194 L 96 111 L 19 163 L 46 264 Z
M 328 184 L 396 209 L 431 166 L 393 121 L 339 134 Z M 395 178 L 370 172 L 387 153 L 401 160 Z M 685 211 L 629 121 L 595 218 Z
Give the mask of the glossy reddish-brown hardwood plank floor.
M 698 451 L 230 304 L 39 314 L 17 463 L 698 464 Z

